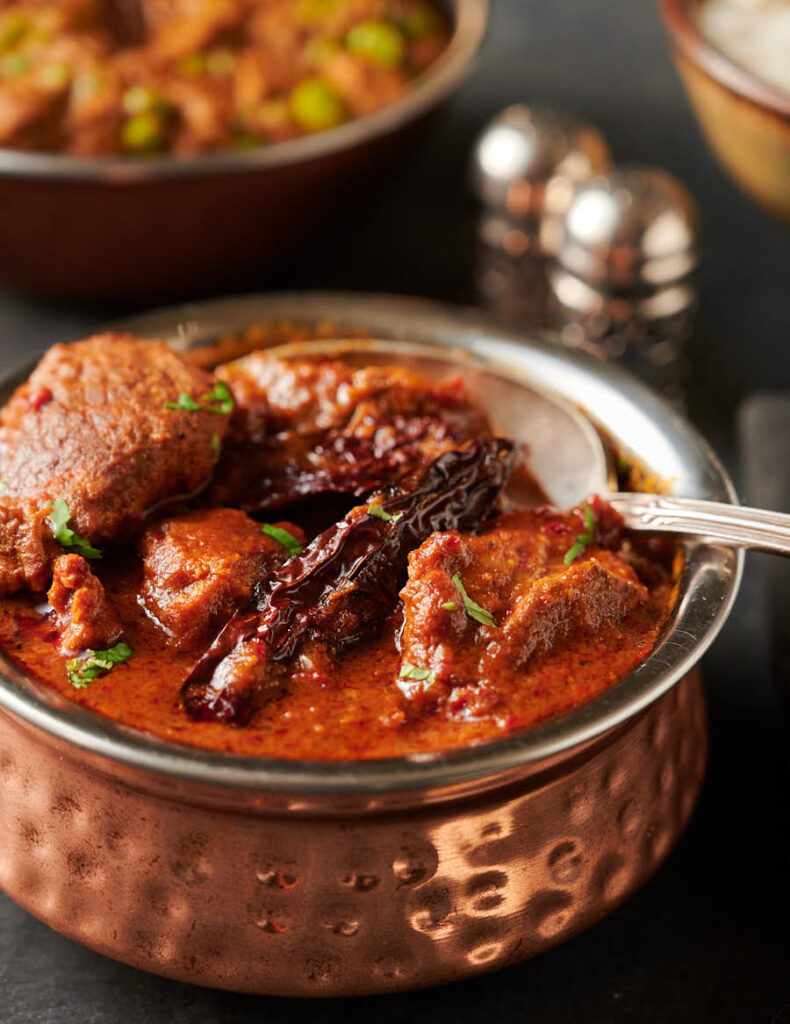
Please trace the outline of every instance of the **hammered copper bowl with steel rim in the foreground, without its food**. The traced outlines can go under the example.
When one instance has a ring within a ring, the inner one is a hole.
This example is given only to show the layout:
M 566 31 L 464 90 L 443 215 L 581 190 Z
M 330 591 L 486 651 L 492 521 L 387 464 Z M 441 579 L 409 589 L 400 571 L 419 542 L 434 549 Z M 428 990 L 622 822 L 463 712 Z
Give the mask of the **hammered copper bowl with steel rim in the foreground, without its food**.
M 283 319 L 509 365 L 589 410 L 677 493 L 733 498 L 704 441 L 630 377 L 475 314 L 313 295 L 128 326 L 183 347 Z M 685 826 L 706 756 L 696 666 L 740 571 L 732 551 L 691 544 L 656 650 L 608 693 L 522 734 L 393 761 L 274 762 L 168 744 L 4 659 L 0 884 L 93 949 L 240 991 L 384 992 L 531 956 L 637 889 Z

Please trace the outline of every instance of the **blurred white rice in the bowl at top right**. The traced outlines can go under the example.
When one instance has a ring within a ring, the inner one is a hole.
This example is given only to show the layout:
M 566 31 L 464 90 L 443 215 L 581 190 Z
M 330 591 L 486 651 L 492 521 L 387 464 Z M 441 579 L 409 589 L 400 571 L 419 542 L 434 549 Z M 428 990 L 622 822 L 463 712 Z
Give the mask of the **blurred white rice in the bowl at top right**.
M 790 0 L 705 0 L 699 25 L 731 60 L 790 92 Z

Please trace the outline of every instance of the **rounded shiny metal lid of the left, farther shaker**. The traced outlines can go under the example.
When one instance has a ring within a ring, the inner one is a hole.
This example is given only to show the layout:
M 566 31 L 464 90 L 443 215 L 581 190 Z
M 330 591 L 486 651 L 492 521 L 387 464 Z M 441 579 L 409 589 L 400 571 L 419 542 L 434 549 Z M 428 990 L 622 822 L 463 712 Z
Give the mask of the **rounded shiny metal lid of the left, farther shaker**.
M 471 180 L 487 206 L 512 217 L 564 212 L 576 187 L 611 162 L 600 132 L 546 106 L 508 106 L 481 132 Z

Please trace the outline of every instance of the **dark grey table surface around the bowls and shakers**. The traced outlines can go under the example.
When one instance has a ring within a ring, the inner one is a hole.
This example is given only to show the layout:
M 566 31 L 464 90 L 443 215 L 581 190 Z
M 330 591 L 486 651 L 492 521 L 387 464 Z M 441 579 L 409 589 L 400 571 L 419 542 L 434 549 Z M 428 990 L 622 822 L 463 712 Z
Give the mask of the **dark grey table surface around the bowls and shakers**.
M 246 289 L 343 288 L 469 302 L 470 139 L 517 99 L 587 116 L 620 160 L 660 164 L 697 196 L 705 254 L 692 344 L 693 419 L 737 472 L 744 395 L 790 385 L 790 234 L 750 205 L 702 142 L 650 0 L 494 0 L 476 74 L 387 196 Z M 130 310 L 0 292 L 0 368 Z M 790 447 L 786 437 L 776 443 Z M 754 565 L 705 660 L 711 757 L 699 809 L 656 878 L 591 931 L 533 962 L 433 991 L 332 1004 L 231 995 L 105 959 L 0 896 L 2 1024 L 790 1022 L 788 723 L 768 669 Z M 1 824 L 0 824 L 1 826 Z

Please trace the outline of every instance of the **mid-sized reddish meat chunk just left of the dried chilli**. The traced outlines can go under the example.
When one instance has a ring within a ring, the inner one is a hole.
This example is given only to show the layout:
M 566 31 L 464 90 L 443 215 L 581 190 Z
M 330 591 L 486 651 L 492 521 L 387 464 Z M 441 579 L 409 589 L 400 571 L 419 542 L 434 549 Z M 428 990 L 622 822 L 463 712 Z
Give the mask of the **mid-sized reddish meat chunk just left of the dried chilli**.
M 298 526 L 276 525 L 303 543 Z M 283 544 L 238 509 L 164 519 L 142 535 L 140 551 L 142 605 L 179 647 L 213 639 L 289 557 Z

